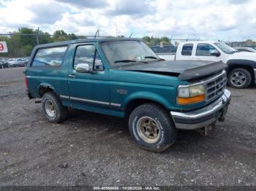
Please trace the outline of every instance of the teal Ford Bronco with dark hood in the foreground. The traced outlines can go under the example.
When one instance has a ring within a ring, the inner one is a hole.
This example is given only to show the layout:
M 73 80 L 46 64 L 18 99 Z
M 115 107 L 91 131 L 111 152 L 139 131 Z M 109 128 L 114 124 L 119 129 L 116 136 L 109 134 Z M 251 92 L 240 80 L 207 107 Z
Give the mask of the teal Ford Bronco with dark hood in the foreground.
M 29 98 L 42 98 L 48 121 L 64 121 L 69 108 L 127 117 L 140 147 L 162 152 L 177 129 L 225 119 L 225 67 L 164 61 L 140 39 L 97 38 L 34 47 L 25 74 Z

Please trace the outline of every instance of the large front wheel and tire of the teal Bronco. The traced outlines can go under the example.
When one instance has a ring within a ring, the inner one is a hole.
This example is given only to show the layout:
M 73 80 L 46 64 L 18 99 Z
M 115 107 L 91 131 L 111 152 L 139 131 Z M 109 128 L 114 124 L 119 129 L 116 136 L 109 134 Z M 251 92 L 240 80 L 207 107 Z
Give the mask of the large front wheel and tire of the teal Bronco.
M 156 139 L 152 139 L 155 140 L 154 142 L 148 142 L 151 139 L 144 139 L 144 133 L 141 133 L 143 131 L 141 129 L 145 129 L 144 127 L 140 128 L 143 126 L 140 125 L 142 124 L 141 121 L 147 119 L 154 123 L 154 127 L 157 125 L 159 136 Z M 177 130 L 170 114 L 157 104 L 143 104 L 134 109 L 129 116 L 129 131 L 140 147 L 153 152 L 165 151 L 176 141 L 177 136 Z

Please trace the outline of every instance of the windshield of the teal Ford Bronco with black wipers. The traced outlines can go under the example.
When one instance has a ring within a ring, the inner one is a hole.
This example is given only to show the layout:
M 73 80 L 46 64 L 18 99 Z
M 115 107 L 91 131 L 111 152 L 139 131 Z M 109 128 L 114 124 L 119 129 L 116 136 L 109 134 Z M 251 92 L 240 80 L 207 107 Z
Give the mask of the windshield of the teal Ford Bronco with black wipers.
M 140 41 L 102 42 L 101 47 L 111 66 L 124 66 L 132 63 L 159 61 L 158 56 Z

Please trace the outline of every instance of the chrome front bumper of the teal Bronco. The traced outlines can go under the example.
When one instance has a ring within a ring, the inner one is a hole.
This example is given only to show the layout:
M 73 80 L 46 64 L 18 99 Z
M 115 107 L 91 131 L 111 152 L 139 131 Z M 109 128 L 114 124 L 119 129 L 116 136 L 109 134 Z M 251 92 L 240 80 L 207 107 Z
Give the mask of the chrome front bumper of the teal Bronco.
M 230 103 L 231 93 L 225 90 L 223 95 L 208 106 L 192 112 L 170 112 L 176 128 L 178 129 L 198 129 L 211 125 L 218 119 L 223 120 Z

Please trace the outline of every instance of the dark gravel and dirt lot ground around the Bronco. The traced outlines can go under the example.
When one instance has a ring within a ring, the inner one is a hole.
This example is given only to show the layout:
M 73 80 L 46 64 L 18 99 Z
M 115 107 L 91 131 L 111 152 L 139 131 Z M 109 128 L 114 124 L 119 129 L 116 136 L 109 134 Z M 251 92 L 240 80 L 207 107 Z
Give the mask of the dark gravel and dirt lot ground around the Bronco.
M 234 90 L 225 122 L 180 131 L 166 152 L 140 149 L 119 118 L 72 111 L 59 125 L 24 92 L 24 68 L 0 70 L 0 185 L 255 185 L 256 86 Z

